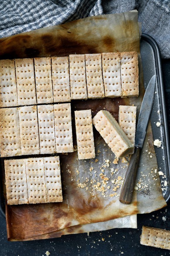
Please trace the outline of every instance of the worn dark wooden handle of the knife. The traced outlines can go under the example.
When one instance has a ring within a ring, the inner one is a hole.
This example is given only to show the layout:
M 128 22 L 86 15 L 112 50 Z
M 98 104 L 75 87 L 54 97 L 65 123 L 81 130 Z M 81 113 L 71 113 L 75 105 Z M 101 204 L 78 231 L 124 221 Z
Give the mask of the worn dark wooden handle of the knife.
M 132 155 L 129 161 L 129 166 L 126 170 L 125 179 L 119 196 L 119 201 L 123 204 L 130 204 L 132 200 L 132 193 L 140 159 L 140 152 L 141 149 L 135 147 L 135 152 Z

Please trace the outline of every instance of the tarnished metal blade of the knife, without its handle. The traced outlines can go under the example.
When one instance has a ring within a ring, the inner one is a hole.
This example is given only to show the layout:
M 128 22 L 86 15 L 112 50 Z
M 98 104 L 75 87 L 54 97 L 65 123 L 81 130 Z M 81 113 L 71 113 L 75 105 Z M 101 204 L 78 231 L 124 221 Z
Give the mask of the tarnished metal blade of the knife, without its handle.
M 142 105 L 140 108 L 140 114 L 137 122 L 136 128 L 136 138 L 135 138 L 135 147 L 142 148 L 144 138 L 147 131 L 147 126 L 149 122 L 149 118 L 152 111 L 152 106 L 154 102 L 154 92 L 155 92 L 155 83 L 156 83 L 156 75 L 154 75 L 147 86 L 145 91 Z

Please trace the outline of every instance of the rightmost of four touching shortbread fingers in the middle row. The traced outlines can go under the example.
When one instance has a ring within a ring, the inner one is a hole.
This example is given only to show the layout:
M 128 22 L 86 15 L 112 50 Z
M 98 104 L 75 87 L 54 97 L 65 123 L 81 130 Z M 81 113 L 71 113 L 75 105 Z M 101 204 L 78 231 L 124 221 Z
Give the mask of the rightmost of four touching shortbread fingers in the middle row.
M 55 145 L 57 153 L 73 152 L 71 104 L 54 105 Z

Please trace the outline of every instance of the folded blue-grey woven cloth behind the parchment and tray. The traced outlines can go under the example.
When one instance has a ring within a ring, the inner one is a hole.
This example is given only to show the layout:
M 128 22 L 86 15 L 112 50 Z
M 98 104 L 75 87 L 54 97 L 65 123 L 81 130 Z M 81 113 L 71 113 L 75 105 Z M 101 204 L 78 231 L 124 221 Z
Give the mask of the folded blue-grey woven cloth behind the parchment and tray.
M 139 12 L 142 32 L 157 41 L 162 58 L 170 58 L 169 0 L 0 0 L 0 37 L 134 9 Z

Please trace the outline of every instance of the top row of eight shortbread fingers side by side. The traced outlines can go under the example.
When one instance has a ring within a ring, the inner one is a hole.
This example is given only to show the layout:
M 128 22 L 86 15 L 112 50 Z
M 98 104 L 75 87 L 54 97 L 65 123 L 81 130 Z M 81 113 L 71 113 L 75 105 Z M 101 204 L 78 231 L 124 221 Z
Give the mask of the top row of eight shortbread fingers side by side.
M 0 84 L 0 107 L 138 96 L 138 54 L 0 60 Z

